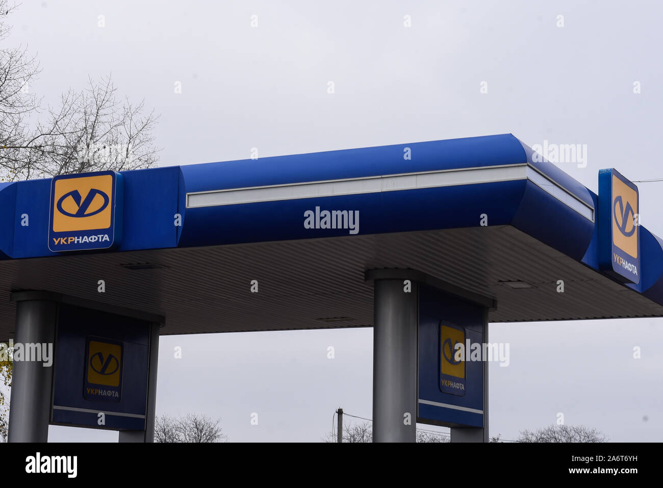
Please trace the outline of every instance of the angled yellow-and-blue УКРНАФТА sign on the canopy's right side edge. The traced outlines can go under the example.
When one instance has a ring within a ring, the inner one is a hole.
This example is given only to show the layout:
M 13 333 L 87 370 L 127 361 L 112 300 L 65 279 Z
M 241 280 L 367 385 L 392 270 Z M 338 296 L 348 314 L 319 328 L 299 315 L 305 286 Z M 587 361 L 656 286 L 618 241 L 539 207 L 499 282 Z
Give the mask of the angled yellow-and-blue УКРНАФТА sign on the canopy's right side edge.
M 617 170 L 599 170 L 599 267 L 623 282 L 640 282 L 638 187 Z

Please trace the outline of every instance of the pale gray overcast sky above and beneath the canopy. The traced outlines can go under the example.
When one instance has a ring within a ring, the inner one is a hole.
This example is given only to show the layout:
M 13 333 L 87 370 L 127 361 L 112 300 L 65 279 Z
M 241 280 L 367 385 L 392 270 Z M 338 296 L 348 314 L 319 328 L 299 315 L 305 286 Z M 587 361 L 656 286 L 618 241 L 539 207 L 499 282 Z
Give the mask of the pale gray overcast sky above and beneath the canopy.
M 46 103 L 109 73 L 119 93 L 145 98 L 161 114 L 163 166 L 244 159 L 252 147 L 264 157 L 513 133 L 530 146 L 586 144 L 585 168 L 559 166 L 596 192 L 599 168 L 663 178 L 662 10 L 657 1 L 28 0 L 5 42 L 38 55 L 30 89 Z M 639 188 L 642 223 L 663 235 L 663 182 Z M 490 365 L 491 435 L 514 439 L 563 412 L 613 441 L 661 440 L 662 319 L 491 324 L 490 340 L 511 343 L 509 367 Z M 338 406 L 371 417 L 372 347 L 371 329 L 162 337 L 156 410 L 221 418 L 233 442 L 315 442 Z M 49 440 L 117 432 L 51 426 Z

